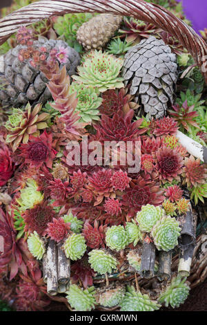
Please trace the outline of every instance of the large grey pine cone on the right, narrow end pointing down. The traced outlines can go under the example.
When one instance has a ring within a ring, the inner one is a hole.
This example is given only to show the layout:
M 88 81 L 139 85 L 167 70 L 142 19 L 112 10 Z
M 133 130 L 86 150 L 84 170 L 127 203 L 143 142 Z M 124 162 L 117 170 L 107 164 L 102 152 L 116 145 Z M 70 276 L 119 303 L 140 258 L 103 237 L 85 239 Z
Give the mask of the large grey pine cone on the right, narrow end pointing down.
M 130 94 L 150 117 L 163 117 L 177 82 L 176 55 L 164 41 L 149 37 L 128 50 L 124 59 L 123 77 Z

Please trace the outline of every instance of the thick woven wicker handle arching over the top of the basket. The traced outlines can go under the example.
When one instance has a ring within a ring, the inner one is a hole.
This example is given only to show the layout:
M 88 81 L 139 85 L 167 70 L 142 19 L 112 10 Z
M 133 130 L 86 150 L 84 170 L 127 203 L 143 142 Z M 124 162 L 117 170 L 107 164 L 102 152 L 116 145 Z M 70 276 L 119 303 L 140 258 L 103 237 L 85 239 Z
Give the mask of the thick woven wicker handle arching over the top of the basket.
M 162 28 L 176 37 L 193 55 L 207 83 L 207 44 L 195 30 L 165 8 L 144 0 L 42 0 L 0 19 L 0 45 L 21 26 L 52 16 L 75 12 L 99 12 L 131 16 Z

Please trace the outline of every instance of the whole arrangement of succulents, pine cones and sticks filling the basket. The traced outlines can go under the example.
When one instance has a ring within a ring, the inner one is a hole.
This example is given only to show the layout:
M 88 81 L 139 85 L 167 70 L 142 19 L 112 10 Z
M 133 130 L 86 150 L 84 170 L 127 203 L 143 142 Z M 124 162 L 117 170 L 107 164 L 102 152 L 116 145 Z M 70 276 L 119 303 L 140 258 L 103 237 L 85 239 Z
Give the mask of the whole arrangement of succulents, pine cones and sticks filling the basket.
M 43 21 L 38 2 L 16 2 L 36 11 L 0 46 L 0 299 L 28 311 L 179 307 L 206 277 L 204 40 L 175 0 L 66 15 L 55 1 Z M 67 12 L 90 3 L 76 2 Z M 1 18 L 0 41 L 21 12 Z

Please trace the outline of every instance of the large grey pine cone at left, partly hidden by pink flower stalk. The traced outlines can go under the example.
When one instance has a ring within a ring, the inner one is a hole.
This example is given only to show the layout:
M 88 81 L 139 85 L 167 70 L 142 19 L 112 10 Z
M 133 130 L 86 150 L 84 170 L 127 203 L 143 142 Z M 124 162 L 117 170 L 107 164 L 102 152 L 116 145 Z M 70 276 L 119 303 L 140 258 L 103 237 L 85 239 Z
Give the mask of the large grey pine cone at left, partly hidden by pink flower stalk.
M 75 74 L 75 69 L 80 63 L 80 57 L 74 48 L 70 48 L 65 41 L 47 40 L 44 37 L 34 41 L 35 48 L 41 48 L 41 46 L 46 48 L 46 55 L 49 55 L 52 48 L 67 47 L 67 62 L 60 66 L 66 65 L 68 75 Z M 31 66 L 29 60 L 19 61 L 18 55 L 21 48 L 26 48 L 26 46 L 17 45 L 4 56 L 0 73 L 0 80 L 3 83 L 0 90 L 0 101 L 3 107 L 17 107 L 27 102 L 30 102 L 30 104 L 44 103 L 50 98 L 50 91 L 46 87 L 48 80 L 43 73 L 38 68 Z

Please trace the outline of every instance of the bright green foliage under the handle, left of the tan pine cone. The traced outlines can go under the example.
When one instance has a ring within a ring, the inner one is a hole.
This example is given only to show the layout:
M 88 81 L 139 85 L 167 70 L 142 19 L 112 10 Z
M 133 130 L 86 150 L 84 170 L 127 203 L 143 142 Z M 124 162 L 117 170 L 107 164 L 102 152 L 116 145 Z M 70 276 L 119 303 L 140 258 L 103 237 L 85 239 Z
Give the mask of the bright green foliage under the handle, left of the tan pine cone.
M 69 46 L 75 48 L 77 52 L 81 53 L 83 48 L 76 39 L 77 30 L 79 27 L 91 19 L 94 15 L 86 12 L 79 14 L 67 14 L 63 17 L 58 17 L 54 24 L 57 34 L 64 39 Z

